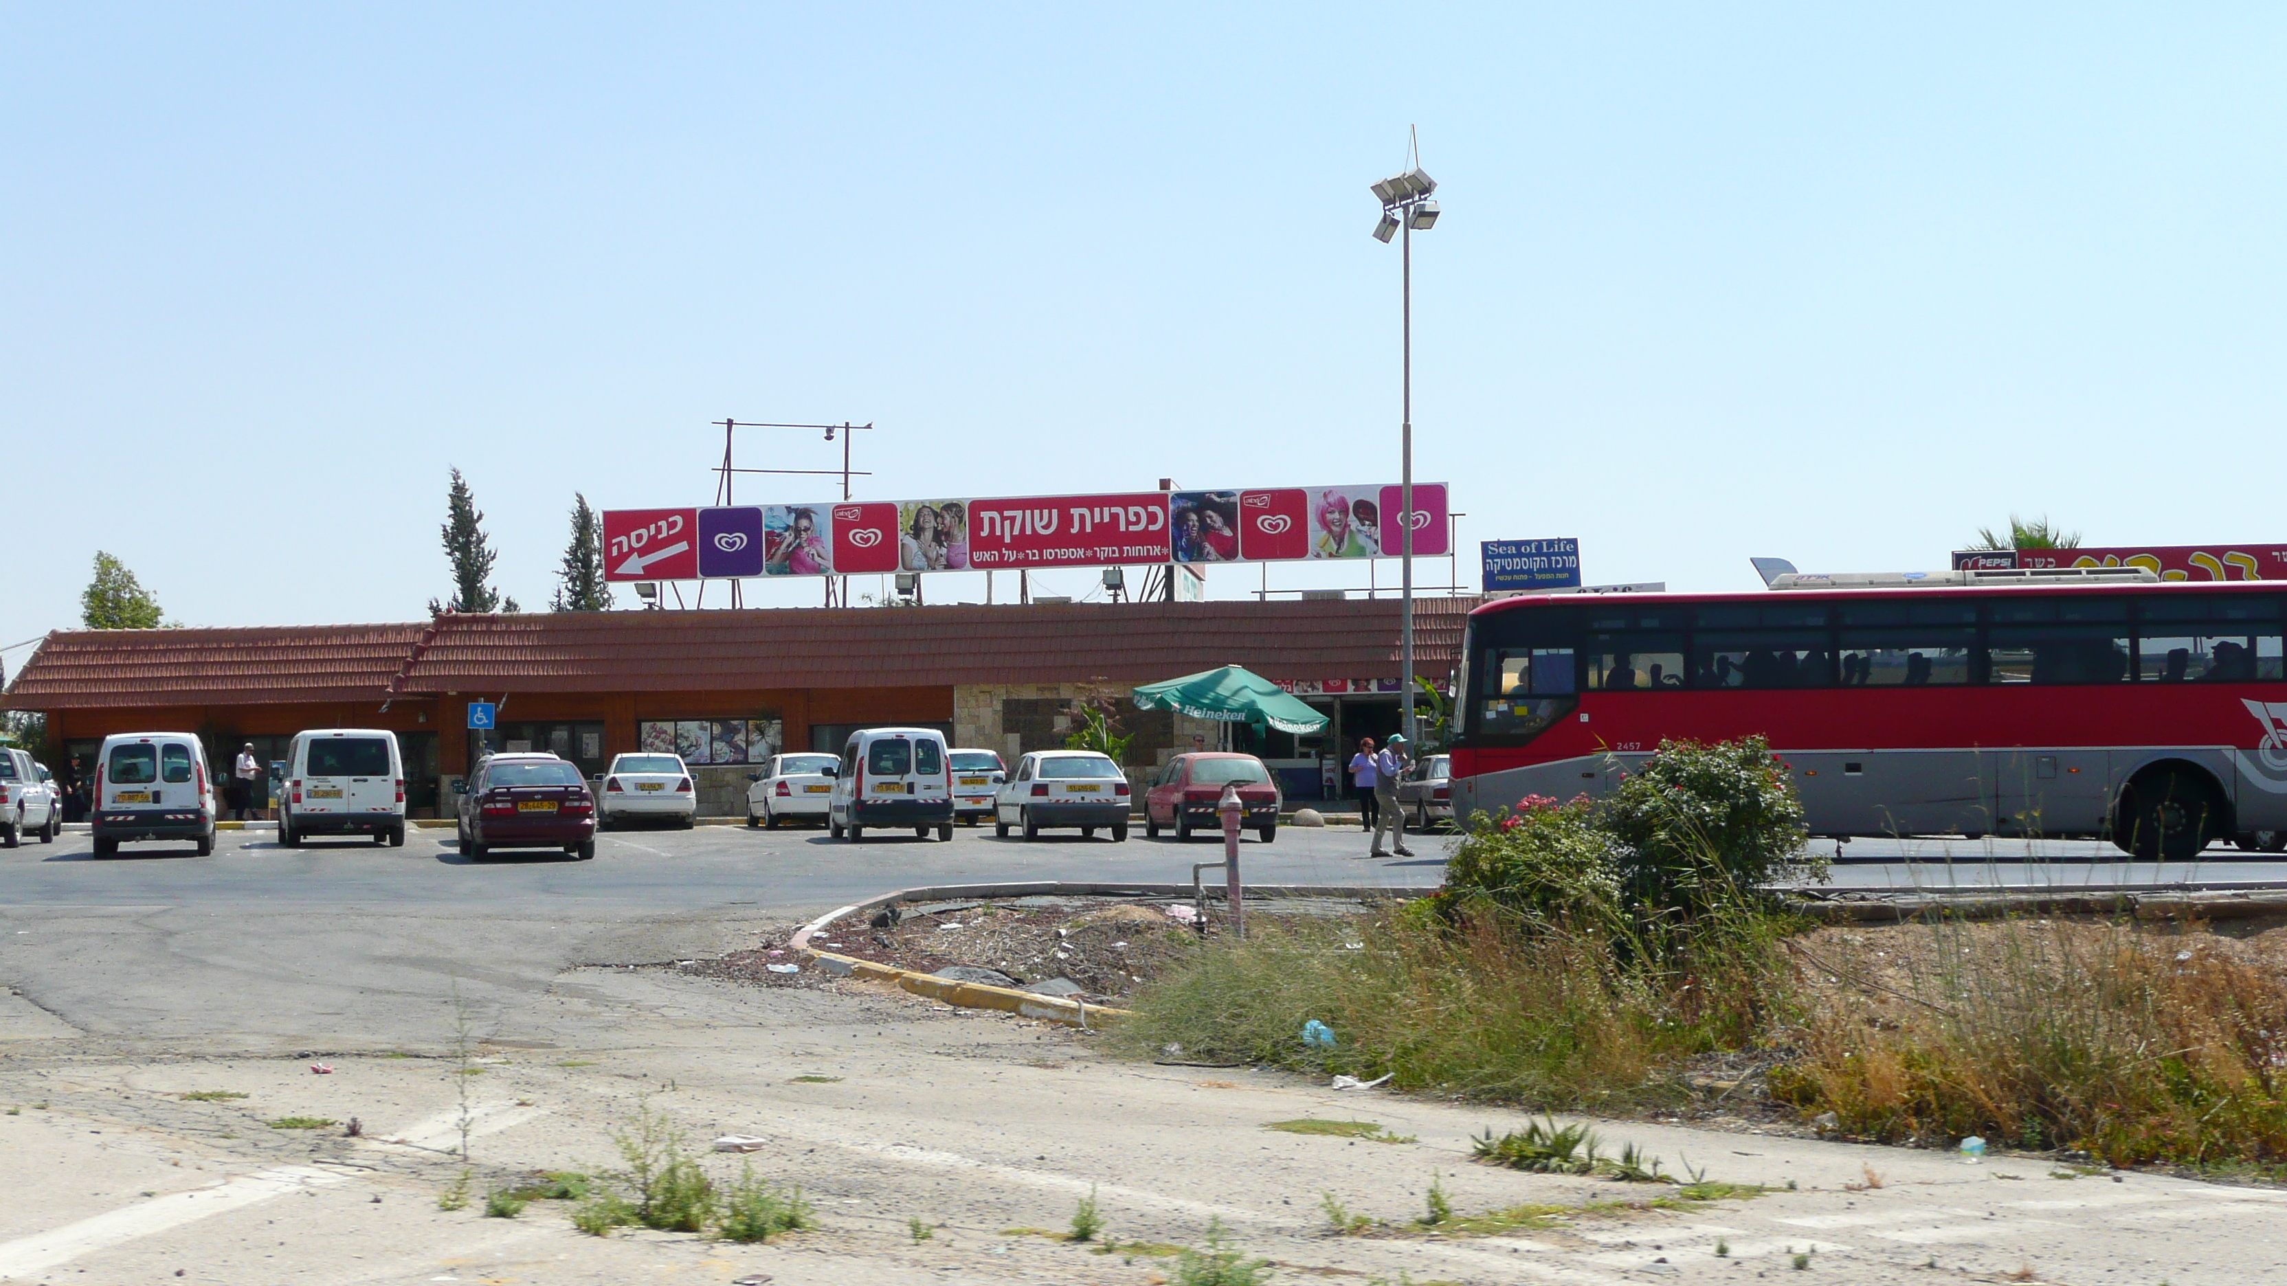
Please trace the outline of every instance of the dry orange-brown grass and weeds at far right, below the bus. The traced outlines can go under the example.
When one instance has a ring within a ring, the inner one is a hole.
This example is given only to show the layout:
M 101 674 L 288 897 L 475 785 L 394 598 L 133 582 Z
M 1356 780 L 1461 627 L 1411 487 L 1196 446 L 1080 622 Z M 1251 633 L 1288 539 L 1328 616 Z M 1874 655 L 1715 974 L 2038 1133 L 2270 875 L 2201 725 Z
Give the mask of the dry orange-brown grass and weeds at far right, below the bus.
M 1928 963 L 1894 1000 L 1846 989 L 1814 1007 L 1775 1094 L 1875 1140 L 2287 1158 L 2287 982 L 2131 922 L 1907 931 Z

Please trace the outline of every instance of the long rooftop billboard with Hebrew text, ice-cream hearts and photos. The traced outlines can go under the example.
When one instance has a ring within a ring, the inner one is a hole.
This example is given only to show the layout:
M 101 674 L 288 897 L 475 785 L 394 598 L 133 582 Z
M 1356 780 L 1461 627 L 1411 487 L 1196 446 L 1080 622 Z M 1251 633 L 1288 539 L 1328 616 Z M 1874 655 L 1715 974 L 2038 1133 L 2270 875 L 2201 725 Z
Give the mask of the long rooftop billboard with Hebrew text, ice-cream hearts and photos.
M 613 581 L 1450 551 L 1445 483 L 604 510 Z M 1411 549 L 1407 533 L 1411 531 Z

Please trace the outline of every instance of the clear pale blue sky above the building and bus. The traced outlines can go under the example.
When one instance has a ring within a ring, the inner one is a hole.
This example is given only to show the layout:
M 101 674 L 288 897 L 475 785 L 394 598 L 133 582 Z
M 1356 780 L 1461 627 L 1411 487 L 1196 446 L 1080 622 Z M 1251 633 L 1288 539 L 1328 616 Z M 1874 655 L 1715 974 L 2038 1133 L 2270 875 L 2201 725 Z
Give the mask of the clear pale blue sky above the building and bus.
M 0 645 L 75 625 L 98 547 L 190 625 L 419 618 L 448 465 L 537 606 L 572 492 L 704 503 L 725 414 L 878 423 L 876 499 L 1395 478 L 1365 185 L 1409 124 L 1445 206 L 1418 476 L 1471 551 L 1578 535 L 1592 581 L 1747 588 L 1752 554 L 1930 567 L 2010 510 L 2280 538 L 2282 37 L 2276 7 L 14 5 L 0 513 L 34 558 Z

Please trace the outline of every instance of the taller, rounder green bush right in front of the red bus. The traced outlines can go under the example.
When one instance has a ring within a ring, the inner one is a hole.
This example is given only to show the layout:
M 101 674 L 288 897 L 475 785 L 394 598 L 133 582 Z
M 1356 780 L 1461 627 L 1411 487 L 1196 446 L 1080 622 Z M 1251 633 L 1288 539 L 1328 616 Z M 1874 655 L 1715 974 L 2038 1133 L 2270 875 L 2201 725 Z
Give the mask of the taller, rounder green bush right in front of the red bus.
M 1825 879 L 1802 799 L 1770 741 L 1660 741 L 1599 808 L 1631 895 L 1704 908 L 1786 876 Z

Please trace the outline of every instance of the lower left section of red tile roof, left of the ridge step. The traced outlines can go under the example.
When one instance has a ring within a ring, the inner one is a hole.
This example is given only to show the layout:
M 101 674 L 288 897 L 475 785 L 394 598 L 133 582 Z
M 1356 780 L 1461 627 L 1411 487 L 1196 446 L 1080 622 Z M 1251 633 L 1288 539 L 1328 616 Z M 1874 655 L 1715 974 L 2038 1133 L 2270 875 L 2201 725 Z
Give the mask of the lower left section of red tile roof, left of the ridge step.
M 384 700 L 428 625 L 57 629 L 7 689 L 11 709 Z

